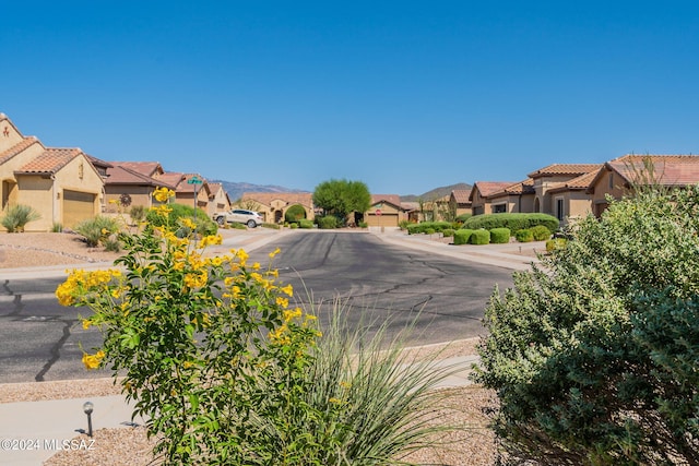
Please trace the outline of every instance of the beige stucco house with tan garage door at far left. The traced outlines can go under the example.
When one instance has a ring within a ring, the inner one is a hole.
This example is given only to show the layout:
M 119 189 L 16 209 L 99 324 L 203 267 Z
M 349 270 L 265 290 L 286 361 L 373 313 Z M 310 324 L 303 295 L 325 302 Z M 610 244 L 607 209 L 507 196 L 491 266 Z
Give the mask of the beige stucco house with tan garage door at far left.
M 46 147 L 37 138 L 24 136 L 0 113 L 2 214 L 13 205 L 32 206 L 40 217 L 26 225 L 27 231 L 74 227 L 94 217 L 104 203 L 104 182 L 93 160 L 78 147 Z

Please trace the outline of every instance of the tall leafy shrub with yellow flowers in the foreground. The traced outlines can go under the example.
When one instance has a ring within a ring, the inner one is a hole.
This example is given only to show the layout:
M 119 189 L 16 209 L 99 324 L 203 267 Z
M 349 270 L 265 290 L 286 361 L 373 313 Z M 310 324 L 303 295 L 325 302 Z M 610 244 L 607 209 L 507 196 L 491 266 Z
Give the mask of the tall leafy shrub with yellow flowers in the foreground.
M 120 235 L 115 268 L 73 270 L 56 289 L 62 306 L 91 310 L 83 327 L 104 338 L 83 363 L 119 375 L 164 464 L 301 464 L 321 447 L 305 431 L 320 415 L 303 398 L 320 333 L 276 282 L 279 250 L 266 270 L 244 250 L 208 256 L 221 237 L 179 237 L 196 220 L 169 222 L 170 191 L 154 196 L 161 222 Z

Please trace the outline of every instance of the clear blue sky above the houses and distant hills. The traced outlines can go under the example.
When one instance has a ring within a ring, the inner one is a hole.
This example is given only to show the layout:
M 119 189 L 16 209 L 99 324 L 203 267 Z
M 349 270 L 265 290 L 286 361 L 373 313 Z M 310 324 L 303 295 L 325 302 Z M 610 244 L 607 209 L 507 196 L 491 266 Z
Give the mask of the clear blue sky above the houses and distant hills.
M 0 111 L 168 171 L 420 194 L 699 152 L 696 1 L 22 1 Z

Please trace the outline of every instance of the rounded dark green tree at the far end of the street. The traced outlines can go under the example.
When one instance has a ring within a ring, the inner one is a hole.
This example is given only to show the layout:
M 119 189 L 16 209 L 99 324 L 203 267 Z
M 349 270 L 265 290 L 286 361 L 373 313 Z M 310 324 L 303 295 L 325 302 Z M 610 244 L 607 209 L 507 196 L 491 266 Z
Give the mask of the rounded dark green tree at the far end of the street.
M 371 194 L 362 181 L 331 179 L 316 187 L 313 204 L 344 223 L 350 213 L 364 214 L 369 208 Z

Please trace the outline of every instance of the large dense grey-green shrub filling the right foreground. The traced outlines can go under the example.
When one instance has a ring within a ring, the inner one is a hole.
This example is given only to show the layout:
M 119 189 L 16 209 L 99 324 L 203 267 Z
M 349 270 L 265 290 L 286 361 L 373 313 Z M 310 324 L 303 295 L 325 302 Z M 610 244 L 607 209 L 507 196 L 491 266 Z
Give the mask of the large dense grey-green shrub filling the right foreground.
M 699 463 L 698 211 L 697 187 L 613 202 L 496 289 L 475 380 L 511 456 Z

